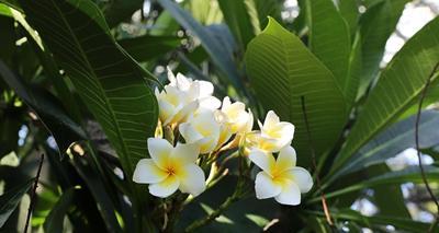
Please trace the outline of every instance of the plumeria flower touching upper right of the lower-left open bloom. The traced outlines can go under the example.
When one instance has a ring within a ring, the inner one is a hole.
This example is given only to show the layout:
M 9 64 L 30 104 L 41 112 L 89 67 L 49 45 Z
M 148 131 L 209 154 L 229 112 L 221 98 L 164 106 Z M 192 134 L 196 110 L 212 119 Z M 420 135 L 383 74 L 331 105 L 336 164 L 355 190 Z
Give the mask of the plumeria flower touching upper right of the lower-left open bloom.
M 212 110 L 202 110 L 189 117 L 188 121 L 179 127 L 187 143 L 195 143 L 201 153 L 214 151 L 219 140 L 221 125 L 216 121 Z

